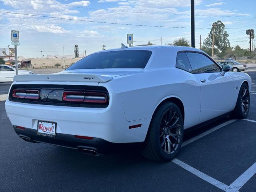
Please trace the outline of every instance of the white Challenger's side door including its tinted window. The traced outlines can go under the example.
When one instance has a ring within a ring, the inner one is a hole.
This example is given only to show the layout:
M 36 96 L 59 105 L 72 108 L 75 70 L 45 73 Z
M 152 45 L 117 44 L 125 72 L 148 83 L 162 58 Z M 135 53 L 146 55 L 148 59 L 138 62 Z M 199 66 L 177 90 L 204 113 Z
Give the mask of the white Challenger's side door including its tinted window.
M 192 73 L 201 85 L 200 123 L 230 111 L 234 81 L 214 60 L 201 52 L 186 52 Z

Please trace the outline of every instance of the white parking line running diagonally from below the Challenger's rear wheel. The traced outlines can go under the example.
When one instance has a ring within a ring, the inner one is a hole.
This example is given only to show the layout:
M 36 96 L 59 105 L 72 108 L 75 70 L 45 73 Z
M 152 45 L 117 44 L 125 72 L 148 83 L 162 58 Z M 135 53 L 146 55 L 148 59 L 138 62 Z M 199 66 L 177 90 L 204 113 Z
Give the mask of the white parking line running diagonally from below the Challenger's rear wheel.
M 202 180 L 205 180 L 208 183 L 210 183 L 210 184 L 212 184 L 212 185 L 214 185 L 214 186 L 216 186 L 216 187 L 218 187 L 218 188 L 220 188 L 222 190 L 225 190 L 225 189 L 227 189 L 229 187 L 226 184 L 224 184 L 224 183 L 222 183 L 222 182 L 212 178 L 211 176 L 208 176 L 208 175 L 204 174 L 203 172 L 200 172 L 199 170 L 195 169 L 194 167 L 191 167 L 188 164 L 186 164 L 186 163 L 184 163 L 184 162 L 182 162 L 182 161 L 180 161 L 180 160 L 178 160 L 176 158 L 174 158 L 172 160 L 172 162 L 174 162 L 175 164 L 177 164 L 177 165 L 181 166 L 182 168 L 186 169 L 190 173 L 198 176 Z

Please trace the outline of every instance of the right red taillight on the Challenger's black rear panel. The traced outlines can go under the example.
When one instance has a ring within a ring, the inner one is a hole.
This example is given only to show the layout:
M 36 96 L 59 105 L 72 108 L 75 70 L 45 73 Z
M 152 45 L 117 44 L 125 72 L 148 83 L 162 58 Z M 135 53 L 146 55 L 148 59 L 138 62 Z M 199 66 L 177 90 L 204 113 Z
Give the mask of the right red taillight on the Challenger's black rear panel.
M 101 92 L 64 91 L 62 98 L 69 102 L 106 103 L 108 101 L 107 95 Z

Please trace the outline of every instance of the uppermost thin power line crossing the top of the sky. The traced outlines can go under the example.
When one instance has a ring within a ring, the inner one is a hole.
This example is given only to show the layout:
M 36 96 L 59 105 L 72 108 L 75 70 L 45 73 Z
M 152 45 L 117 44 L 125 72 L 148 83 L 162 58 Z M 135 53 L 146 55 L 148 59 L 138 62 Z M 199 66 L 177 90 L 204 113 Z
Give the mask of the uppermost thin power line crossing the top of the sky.
M 31 1 L 24 1 L 24 0 L 12 0 L 18 2 L 31 2 Z M 50 3 L 40 3 L 34 2 L 36 4 L 45 4 L 45 5 L 54 5 L 54 6 L 63 6 L 63 7 L 72 7 L 72 8 L 82 8 L 82 9 L 89 9 L 89 10 L 106 10 L 106 11 L 113 11 L 113 12 L 127 12 L 127 13 L 140 13 L 140 14 L 154 14 L 154 15 L 177 15 L 177 16 L 190 16 L 188 14 L 174 14 L 174 13 L 150 13 L 150 12 L 134 12 L 134 11 L 124 11 L 124 10 L 111 10 L 111 9 L 102 9 L 102 8 L 90 8 L 90 7 L 80 7 L 80 6 L 72 6 L 72 5 L 64 5 L 64 4 L 50 4 Z M 202 17 L 220 17 L 219 15 L 195 15 L 195 16 L 202 16 Z M 227 16 L 224 15 L 222 17 L 248 17 L 248 18 L 255 18 L 255 16 Z

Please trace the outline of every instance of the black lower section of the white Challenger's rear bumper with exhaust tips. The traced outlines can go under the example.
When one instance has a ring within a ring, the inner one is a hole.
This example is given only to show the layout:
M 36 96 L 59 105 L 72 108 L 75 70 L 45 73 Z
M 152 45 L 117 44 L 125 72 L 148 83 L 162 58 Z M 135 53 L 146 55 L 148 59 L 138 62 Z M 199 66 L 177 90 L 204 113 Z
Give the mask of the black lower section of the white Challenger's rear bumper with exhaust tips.
M 25 130 L 16 128 L 13 126 L 15 132 L 20 136 L 20 138 L 28 142 L 41 142 L 46 144 L 52 144 L 55 146 L 62 146 L 67 148 L 78 149 L 82 152 L 103 155 L 109 153 L 117 153 L 123 150 L 134 149 L 142 146 L 140 143 L 127 143 L 127 144 L 117 144 L 108 142 L 100 138 L 93 138 L 92 140 L 75 138 L 74 135 L 57 133 L 56 137 L 47 137 L 37 134 L 37 130 L 26 128 Z M 84 151 L 83 151 L 84 150 Z M 92 153 L 90 153 L 92 152 Z

